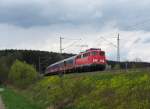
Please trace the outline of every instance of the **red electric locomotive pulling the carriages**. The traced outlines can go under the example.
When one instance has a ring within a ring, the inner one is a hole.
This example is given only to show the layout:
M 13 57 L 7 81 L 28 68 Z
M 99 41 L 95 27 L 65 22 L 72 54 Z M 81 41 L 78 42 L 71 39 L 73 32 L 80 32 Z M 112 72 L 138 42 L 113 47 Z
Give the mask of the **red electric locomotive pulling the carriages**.
M 76 67 L 83 70 L 104 70 L 106 67 L 105 52 L 91 48 L 80 53 L 75 61 Z

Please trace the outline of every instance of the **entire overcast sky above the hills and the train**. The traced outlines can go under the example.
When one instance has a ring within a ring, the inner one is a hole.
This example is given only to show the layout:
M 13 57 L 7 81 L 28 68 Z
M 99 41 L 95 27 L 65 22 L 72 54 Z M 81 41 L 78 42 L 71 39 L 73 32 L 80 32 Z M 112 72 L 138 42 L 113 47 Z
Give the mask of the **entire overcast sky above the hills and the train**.
M 0 0 L 0 49 L 59 52 L 62 36 L 63 52 L 88 45 L 116 60 L 119 33 L 121 60 L 150 62 L 149 12 L 149 0 Z

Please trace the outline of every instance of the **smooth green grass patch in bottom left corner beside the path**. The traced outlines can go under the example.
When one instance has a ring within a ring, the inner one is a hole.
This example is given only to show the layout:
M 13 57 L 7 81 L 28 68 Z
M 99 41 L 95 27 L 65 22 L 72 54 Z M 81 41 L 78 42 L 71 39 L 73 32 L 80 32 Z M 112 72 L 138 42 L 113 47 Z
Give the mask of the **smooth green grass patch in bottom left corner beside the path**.
M 5 88 L 1 95 L 6 109 L 42 109 L 10 88 Z

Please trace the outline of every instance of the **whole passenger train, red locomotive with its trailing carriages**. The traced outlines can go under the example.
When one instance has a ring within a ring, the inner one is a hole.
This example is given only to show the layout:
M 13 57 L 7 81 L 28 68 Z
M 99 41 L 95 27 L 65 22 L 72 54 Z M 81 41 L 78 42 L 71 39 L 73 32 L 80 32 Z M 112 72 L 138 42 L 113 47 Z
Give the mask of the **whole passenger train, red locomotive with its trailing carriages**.
M 47 67 L 45 75 L 105 70 L 106 56 L 101 49 L 90 48 L 73 57 L 63 59 Z

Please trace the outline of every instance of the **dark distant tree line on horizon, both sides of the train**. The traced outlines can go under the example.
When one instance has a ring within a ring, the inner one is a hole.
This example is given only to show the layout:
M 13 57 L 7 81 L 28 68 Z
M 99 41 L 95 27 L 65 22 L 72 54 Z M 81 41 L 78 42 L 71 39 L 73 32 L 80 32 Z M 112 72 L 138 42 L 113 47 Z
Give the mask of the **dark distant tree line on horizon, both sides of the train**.
M 48 52 L 48 51 L 39 51 L 39 50 L 14 50 L 14 49 L 6 49 L 0 50 L 0 61 L 5 61 L 5 64 L 1 64 L 2 67 L 10 67 L 13 61 L 20 60 L 22 62 L 26 62 L 28 64 L 32 64 L 36 70 L 40 73 L 43 73 L 47 66 L 71 57 L 75 54 L 67 54 L 67 53 L 56 53 L 56 52 Z M 143 68 L 150 67 L 150 63 L 148 62 L 117 62 L 107 60 L 107 64 L 111 66 L 111 69 L 119 65 L 121 69 L 125 68 Z

